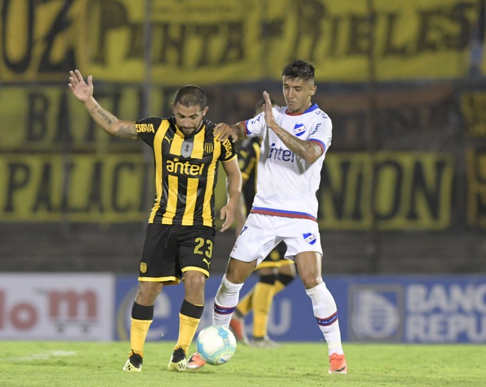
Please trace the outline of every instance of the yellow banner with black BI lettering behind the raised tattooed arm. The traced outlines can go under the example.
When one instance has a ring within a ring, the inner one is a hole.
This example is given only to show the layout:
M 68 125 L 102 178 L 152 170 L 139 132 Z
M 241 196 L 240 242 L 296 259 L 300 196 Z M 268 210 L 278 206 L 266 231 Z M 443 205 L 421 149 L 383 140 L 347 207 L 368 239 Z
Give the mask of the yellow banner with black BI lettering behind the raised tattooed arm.
M 141 119 L 140 87 L 96 87 L 97 101 L 120 119 Z M 150 96 L 154 113 L 169 101 L 160 90 Z M 150 115 L 150 114 L 147 114 Z M 29 152 L 136 151 L 142 141 L 117 139 L 97 126 L 83 103 L 69 91 L 67 83 L 59 86 L 7 86 L 0 89 L 0 117 L 3 136 L 0 150 Z

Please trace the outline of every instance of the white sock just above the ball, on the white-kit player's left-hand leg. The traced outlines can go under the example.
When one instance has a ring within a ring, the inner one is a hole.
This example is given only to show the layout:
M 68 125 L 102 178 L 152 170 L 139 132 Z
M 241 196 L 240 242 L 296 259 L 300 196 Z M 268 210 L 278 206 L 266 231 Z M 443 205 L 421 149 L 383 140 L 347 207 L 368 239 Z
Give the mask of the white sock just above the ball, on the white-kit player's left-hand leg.
M 243 284 L 233 284 L 226 279 L 221 279 L 221 285 L 215 297 L 215 309 L 212 311 L 212 323 L 215 325 L 230 325 L 231 316 L 235 311 L 240 298 L 240 290 Z

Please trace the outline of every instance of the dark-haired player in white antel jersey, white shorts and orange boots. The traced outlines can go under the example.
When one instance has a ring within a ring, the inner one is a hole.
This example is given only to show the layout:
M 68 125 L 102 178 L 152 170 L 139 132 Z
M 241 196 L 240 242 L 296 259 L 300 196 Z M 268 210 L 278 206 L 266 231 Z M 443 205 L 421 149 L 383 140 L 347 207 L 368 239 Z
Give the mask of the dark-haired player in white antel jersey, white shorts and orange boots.
M 326 339 L 328 372 L 346 374 L 336 303 L 321 276 L 317 225 L 316 192 L 330 146 L 332 123 L 311 101 L 317 89 L 312 65 L 292 60 L 283 68 L 282 77 L 285 107 L 272 108 L 269 94 L 263 92 L 266 104 L 262 114 L 233 126 L 218 123 L 215 127 L 220 141 L 260 136 L 262 146 L 257 193 L 217 291 L 212 322 L 228 327 L 244 281 L 284 241 L 285 257 L 296 262 L 317 325 Z M 204 361 L 198 354 L 187 362 L 190 369 L 202 365 Z

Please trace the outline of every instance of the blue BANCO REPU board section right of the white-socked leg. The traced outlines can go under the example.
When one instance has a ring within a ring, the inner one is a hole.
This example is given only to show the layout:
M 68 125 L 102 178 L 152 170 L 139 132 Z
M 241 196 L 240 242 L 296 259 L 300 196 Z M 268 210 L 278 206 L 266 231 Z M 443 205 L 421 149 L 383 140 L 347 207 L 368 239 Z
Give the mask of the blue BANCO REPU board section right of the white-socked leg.
M 348 341 L 486 343 L 486 277 L 347 277 Z

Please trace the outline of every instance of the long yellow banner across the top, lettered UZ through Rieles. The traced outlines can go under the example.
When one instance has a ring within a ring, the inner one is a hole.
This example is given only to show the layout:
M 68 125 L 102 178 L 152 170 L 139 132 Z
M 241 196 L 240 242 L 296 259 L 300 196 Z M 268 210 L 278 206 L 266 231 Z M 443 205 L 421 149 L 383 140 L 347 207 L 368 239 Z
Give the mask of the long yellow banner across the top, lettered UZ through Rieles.
M 65 80 L 78 67 L 114 82 L 241 83 L 278 80 L 292 58 L 312 62 L 319 82 L 460 78 L 481 1 L 150 4 L 146 15 L 142 0 L 4 0 L 0 81 Z

